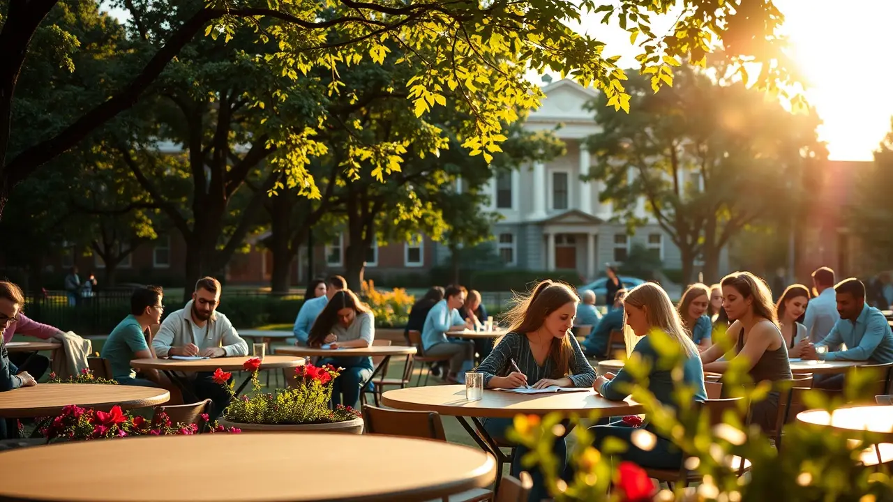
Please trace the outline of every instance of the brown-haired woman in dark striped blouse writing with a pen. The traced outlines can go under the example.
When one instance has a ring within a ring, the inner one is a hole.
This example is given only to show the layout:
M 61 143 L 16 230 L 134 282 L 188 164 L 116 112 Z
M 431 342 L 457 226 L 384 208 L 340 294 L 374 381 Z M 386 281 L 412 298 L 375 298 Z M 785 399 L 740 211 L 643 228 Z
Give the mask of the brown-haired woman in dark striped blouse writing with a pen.
M 505 314 L 510 326 L 509 333 L 497 341 L 493 352 L 478 366 L 478 371 L 484 373 L 484 387 L 516 389 L 526 384 L 535 389 L 591 386 L 596 380 L 596 371 L 589 365 L 577 339 L 570 332 L 578 302 L 580 298 L 571 287 L 551 280 L 540 282 L 529 297 L 520 297 L 512 310 Z M 521 372 L 518 372 L 519 369 Z M 503 444 L 508 442 L 505 431 L 512 423 L 511 418 L 484 419 L 488 433 Z M 566 432 L 570 433 L 570 430 Z M 563 437 L 555 440 L 554 451 L 560 463 L 560 474 L 567 465 L 567 444 Z M 526 470 L 522 467 L 522 457 L 526 453 L 527 449 L 522 446 L 515 450 L 513 476 Z M 546 498 L 547 488 L 542 473 L 535 470 L 532 476 L 530 500 Z

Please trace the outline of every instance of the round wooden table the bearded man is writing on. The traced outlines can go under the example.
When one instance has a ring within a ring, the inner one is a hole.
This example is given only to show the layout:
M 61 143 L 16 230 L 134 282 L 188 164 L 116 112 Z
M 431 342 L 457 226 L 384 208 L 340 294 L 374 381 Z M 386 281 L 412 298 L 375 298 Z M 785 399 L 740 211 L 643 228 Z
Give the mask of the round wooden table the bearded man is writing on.
M 252 357 L 213 357 L 211 359 L 196 359 L 184 361 L 181 359 L 134 359 L 130 365 L 138 370 L 158 370 L 164 372 L 171 381 L 183 391 L 185 397 L 195 398 L 195 394 L 189 390 L 186 380 L 178 373 L 215 372 L 220 368 L 224 372 L 240 372 L 242 365 Z M 265 356 L 261 361 L 260 370 L 275 370 L 279 368 L 296 368 L 304 365 L 303 357 L 294 356 Z M 251 375 L 248 375 L 242 385 L 236 389 L 236 396 L 242 393 Z M 197 400 L 197 399 L 196 399 Z

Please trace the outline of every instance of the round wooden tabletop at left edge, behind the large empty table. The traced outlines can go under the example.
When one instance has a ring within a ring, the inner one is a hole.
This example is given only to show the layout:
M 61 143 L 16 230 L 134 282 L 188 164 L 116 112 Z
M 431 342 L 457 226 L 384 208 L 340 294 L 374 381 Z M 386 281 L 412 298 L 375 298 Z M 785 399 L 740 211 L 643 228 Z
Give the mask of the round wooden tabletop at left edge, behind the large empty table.
M 0 416 L 33 418 L 62 413 L 65 406 L 77 405 L 108 411 L 145 408 L 166 403 L 171 393 L 154 387 L 104 385 L 99 383 L 40 383 L 34 387 L 0 392 Z

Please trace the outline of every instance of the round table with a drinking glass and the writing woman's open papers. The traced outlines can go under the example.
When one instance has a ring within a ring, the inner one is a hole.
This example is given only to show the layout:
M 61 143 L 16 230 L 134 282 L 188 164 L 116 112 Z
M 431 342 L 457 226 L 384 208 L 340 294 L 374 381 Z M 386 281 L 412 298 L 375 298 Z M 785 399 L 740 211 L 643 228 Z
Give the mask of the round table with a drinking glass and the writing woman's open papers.
M 435 385 L 388 390 L 382 394 L 381 403 L 400 410 L 432 411 L 455 416 L 480 448 L 500 459 L 504 455 L 496 440 L 484 429 L 480 418 L 513 418 L 516 414 L 541 416 L 550 413 L 585 416 L 596 411 L 602 416 L 645 413 L 644 407 L 630 397 L 623 401 L 612 401 L 597 395 L 592 389 L 548 394 L 515 394 L 485 389 L 480 400 L 469 401 L 465 398 L 464 385 Z M 472 419 L 473 428 L 465 417 Z M 500 474 L 501 471 L 502 464 L 499 464 Z

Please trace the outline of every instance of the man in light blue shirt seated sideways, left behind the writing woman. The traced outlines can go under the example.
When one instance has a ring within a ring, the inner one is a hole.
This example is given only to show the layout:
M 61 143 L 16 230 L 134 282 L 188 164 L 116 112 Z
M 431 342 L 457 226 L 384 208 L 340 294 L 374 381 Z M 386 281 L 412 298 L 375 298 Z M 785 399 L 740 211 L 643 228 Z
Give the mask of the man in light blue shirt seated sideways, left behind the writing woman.
M 426 356 L 453 356 L 449 362 L 449 374 L 445 380 L 458 382 L 458 374 L 466 361 L 474 360 L 474 344 L 467 340 L 448 339 L 447 331 L 462 326 L 472 328 L 459 314 L 459 307 L 465 303 L 465 293 L 457 286 L 444 291 L 444 299 L 431 307 L 421 330 L 421 344 Z

